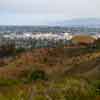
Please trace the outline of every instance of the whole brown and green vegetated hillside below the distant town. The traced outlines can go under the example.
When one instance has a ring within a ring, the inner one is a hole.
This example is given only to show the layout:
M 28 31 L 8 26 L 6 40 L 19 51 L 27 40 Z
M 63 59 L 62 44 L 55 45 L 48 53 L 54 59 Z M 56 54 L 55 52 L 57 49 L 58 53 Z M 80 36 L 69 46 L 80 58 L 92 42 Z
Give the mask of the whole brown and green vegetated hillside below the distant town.
M 97 47 L 7 49 L 13 55 L 0 59 L 0 100 L 100 100 L 96 42 Z

